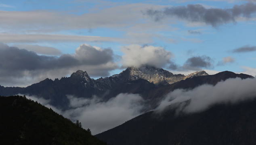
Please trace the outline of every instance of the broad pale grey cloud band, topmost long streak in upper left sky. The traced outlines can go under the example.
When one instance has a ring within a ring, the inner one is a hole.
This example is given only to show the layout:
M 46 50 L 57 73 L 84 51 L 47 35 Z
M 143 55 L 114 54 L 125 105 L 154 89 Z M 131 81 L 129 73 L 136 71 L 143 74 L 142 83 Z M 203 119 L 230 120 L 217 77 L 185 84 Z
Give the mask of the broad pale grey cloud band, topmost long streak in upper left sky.
M 141 9 L 163 8 L 153 4 L 120 4 L 82 14 L 58 11 L 0 11 L 5 31 L 53 32 L 72 29 L 127 28 L 143 19 Z M 143 27 L 142 27 L 143 29 Z

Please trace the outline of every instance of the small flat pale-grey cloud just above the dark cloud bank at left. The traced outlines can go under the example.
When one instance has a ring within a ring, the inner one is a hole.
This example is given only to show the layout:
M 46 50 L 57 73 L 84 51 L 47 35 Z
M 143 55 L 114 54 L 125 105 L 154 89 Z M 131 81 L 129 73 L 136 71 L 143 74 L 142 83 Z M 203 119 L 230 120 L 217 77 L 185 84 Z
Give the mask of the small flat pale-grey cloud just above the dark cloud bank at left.
M 36 52 L 37 54 L 44 54 L 44 55 L 61 55 L 62 52 L 56 48 L 53 47 L 47 47 L 47 46 L 39 46 L 39 45 L 14 45 L 14 47 L 17 47 L 19 49 L 25 49 L 28 51 Z

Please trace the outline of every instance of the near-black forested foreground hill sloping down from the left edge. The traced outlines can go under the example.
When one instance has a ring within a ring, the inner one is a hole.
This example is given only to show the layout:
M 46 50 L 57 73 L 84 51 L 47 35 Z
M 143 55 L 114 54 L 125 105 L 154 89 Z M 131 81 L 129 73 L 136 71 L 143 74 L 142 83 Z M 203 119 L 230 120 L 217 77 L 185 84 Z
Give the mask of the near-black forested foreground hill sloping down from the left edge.
M 2 145 L 105 145 L 70 120 L 22 96 L 0 96 Z

